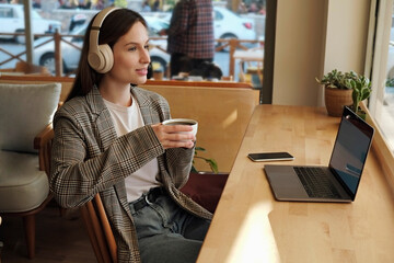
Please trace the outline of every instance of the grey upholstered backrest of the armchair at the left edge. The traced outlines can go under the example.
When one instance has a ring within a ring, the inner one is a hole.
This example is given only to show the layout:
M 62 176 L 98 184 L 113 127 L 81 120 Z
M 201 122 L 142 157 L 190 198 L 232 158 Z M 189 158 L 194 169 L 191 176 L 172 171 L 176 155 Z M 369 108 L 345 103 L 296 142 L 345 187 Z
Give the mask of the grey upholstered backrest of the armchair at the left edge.
M 37 153 L 34 138 L 51 123 L 60 91 L 60 83 L 0 83 L 0 149 Z

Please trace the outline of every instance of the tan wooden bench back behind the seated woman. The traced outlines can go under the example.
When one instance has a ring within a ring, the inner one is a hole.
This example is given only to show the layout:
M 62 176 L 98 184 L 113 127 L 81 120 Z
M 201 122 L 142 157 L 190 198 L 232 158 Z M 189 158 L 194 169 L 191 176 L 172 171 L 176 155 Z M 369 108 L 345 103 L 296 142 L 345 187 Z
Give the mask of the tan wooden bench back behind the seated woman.
M 73 78 L 0 76 L 0 82 L 60 82 L 60 101 L 65 101 Z M 253 110 L 258 104 L 257 90 L 247 83 L 188 81 L 147 81 L 141 88 L 163 95 L 170 103 L 172 117 L 197 119 L 197 146 L 207 150 L 199 155 L 217 160 L 220 172 L 230 172 Z M 196 161 L 195 167 L 199 171 L 210 170 L 204 161 Z

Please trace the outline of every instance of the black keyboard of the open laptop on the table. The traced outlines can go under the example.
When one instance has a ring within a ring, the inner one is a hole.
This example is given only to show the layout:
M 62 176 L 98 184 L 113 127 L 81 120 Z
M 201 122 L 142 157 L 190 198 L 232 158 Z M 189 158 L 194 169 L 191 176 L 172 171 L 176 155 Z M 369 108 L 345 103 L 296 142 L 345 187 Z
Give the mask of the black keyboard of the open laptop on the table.
M 320 168 L 294 167 L 308 195 L 318 198 L 339 198 L 340 195 L 329 181 L 328 175 Z

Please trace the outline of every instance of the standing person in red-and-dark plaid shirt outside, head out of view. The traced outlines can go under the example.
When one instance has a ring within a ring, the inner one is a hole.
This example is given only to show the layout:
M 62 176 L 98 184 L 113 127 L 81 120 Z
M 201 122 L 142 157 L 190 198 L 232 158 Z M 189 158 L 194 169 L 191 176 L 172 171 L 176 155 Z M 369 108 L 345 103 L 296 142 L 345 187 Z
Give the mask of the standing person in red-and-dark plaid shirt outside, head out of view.
M 176 3 L 167 35 L 167 52 L 171 54 L 171 76 L 177 76 L 184 61 L 189 68 L 213 61 L 213 7 L 211 0 L 181 0 Z

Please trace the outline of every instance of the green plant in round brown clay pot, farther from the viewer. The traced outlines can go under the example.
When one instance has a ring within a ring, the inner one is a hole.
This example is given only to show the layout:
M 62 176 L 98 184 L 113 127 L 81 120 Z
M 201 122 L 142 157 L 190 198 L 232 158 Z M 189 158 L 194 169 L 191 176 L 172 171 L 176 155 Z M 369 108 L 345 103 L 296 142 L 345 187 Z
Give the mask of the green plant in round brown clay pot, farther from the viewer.
M 334 69 L 322 79 L 316 78 L 317 83 L 324 85 L 324 102 L 329 116 L 341 116 L 344 106 L 352 104 L 352 90 L 345 81 L 347 77 L 348 73 Z

